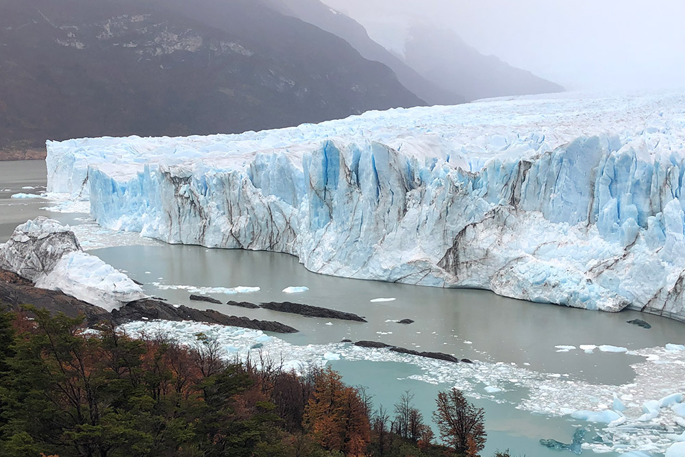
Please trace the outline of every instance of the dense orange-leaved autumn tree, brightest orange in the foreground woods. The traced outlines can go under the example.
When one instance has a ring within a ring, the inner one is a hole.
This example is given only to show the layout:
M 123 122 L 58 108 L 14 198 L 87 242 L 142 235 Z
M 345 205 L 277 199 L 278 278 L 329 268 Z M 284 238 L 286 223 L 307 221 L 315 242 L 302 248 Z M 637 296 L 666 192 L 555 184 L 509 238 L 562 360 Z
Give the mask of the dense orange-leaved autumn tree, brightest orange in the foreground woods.
M 321 371 L 304 412 L 303 425 L 327 451 L 363 456 L 371 441 L 366 406 L 356 388 L 346 386 L 330 367 Z

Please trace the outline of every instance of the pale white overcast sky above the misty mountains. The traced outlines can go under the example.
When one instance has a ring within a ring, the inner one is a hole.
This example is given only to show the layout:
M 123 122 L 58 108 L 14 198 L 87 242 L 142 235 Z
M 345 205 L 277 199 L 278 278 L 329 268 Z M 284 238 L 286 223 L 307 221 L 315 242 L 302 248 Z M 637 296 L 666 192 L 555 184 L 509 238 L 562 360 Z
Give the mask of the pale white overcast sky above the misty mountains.
M 685 0 L 323 1 L 386 47 L 420 18 L 571 90 L 685 88 Z

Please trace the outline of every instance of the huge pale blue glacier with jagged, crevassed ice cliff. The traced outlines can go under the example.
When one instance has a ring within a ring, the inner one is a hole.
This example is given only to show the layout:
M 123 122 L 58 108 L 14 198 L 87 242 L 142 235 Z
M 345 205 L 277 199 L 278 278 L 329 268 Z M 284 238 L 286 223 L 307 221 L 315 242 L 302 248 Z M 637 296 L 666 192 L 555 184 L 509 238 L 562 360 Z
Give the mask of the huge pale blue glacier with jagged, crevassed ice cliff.
M 167 243 L 685 320 L 685 96 L 543 95 L 47 143 L 48 191 Z

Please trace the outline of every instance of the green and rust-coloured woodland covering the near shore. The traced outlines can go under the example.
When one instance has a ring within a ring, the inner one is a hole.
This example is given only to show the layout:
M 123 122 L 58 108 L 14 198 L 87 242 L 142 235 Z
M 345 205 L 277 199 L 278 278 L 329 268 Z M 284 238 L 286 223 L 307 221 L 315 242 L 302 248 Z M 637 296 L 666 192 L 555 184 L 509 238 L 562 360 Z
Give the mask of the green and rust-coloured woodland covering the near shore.
M 374 410 L 330 367 L 296 373 L 261 351 L 230 360 L 205 334 L 186 346 L 32 306 L 0 310 L 1 455 L 480 455 L 482 409 L 455 388 L 440 393 L 438 439 L 412 398 Z

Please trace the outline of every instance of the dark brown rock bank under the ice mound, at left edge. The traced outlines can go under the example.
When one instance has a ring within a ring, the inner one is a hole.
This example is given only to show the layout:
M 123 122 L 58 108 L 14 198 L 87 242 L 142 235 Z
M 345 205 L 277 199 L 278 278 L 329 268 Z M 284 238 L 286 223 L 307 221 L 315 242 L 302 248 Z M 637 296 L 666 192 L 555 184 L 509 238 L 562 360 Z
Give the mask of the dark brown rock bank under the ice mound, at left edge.
M 86 317 L 88 325 L 110 318 L 110 313 L 99 306 L 88 304 L 60 291 L 37 288 L 29 280 L 6 270 L 0 270 L 0 302 L 12 311 L 21 310 L 22 305 L 30 304 L 36 308 L 45 308 L 51 314 L 64 312 L 70 317 L 82 314 Z

